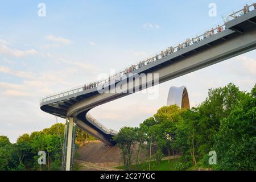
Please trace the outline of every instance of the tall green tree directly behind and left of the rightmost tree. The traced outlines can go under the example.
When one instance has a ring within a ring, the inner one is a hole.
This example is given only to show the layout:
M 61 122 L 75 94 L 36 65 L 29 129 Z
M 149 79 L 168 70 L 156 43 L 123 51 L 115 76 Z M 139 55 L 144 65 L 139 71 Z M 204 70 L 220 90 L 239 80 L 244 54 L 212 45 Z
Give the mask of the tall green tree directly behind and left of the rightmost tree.
M 209 89 L 207 99 L 197 109 L 200 114 L 200 155 L 207 155 L 214 144 L 214 135 L 220 128 L 220 121 L 228 117 L 232 108 L 240 100 L 238 87 L 228 84 L 222 88 Z

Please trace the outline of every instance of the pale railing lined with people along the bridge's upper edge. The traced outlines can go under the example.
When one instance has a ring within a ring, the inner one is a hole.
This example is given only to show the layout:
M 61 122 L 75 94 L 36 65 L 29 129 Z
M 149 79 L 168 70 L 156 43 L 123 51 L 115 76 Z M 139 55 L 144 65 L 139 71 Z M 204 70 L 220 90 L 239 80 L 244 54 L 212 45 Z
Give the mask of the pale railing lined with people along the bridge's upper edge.
M 254 6 L 254 9 L 255 9 L 255 4 L 256 3 L 253 3 L 252 5 L 248 6 L 248 10 L 250 11 L 250 7 L 253 7 L 253 6 Z M 229 15 L 226 18 L 226 22 L 229 21 L 229 19 L 228 19 L 229 17 L 232 17 L 233 19 L 237 18 L 238 17 L 237 13 L 241 13 L 241 11 L 243 12 L 244 9 L 239 10 L 236 13 L 233 13 L 233 14 Z M 243 14 L 240 14 L 239 16 L 241 16 L 241 15 L 243 15 Z M 216 32 L 216 30 L 217 30 L 217 32 Z M 216 28 L 212 28 L 212 30 L 208 30 L 208 31 L 204 32 L 204 34 L 196 36 L 196 38 L 187 39 L 185 42 L 179 44 L 176 47 L 168 47 L 167 49 L 161 51 L 160 54 L 157 54 L 155 56 L 149 57 L 146 60 L 139 61 L 139 63 L 137 63 L 135 65 L 132 65 L 131 67 L 129 67 L 125 71 L 121 71 L 119 73 L 116 73 L 115 75 L 110 75 L 108 78 L 105 78 L 105 79 L 102 79 L 102 80 L 99 80 L 99 81 L 90 82 L 88 84 L 85 84 L 84 86 L 79 86 L 77 88 L 69 89 L 69 90 L 66 90 L 64 92 L 55 93 L 55 94 L 51 94 L 49 96 L 43 97 L 40 100 L 40 104 L 43 103 L 43 102 L 46 102 L 46 101 L 51 101 L 51 100 L 56 99 L 56 98 L 68 96 L 69 94 L 79 93 L 79 92 L 82 92 L 84 90 L 89 90 L 89 89 L 95 88 L 95 87 L 97 87 L 100 84 L 105 84 L 106 82 L 109 82 L 110 80 L 116 80 L 117 78 L 120 78 L 122 75 L 125 75 L 127 73 L 131 73 L 134 70 L 143 67 L 144 65 L 147 65 L 147 64 L 153 63 L 155 61 L 158 61 L 159 59 L 162 59 L 163 57 L 165 57 L 167 55 L 171 55 L 172 53 L 177 52 L 180 49 L 183 49 L 185 47 L 189 47 L 192 44 L 195 44 L 197 42 L 200 42 L 201 40 L 207 39 L 210 36 L 218 34 L 218 32 L 221 32 L 223 30 L 225 30 L 225 23 L 222 24 L 221 26 L 216 27 Z M 159 58 L 159 56 L 160 56 L 160 58 Z

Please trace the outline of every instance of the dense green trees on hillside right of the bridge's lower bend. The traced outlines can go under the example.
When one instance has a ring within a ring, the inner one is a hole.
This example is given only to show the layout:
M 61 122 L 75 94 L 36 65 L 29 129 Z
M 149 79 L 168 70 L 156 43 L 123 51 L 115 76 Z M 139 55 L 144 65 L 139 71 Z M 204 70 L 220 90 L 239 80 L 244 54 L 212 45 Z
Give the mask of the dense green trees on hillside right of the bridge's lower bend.
M 149 170 L 155 169 L 152 159 L 161 164 L 164 154 L 180 154 L 176 168 L 183 170 L 256 170 L 255 90 L 256 85 L 250 93 L 241 92 L 234 84 L 209 89 L 198 107 L 163 106 L 138 128 L 123 127 L 114 137 L 122 151 L 123 168 L 134 169 L 131 154 L 139 153 L 133 150 L 139 144 L 147 147 L 148 162 L 144 164 Z M 210 151 L 216 151 L 216 165 L 209 164 Z M 141 164 L 135 166 L 141 169 Z

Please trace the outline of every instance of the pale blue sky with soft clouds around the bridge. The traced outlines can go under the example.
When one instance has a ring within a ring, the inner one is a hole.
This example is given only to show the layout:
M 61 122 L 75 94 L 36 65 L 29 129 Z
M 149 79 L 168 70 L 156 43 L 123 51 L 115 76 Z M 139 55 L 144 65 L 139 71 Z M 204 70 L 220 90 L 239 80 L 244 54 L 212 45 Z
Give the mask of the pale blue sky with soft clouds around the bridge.
M 40 98 L 96 81 L 168 46 L 223 24 L 242 9 L 241 0 L 2 1 L 0 6 L 0 135 L 19 135 L 64 122 L 40 110 Z M 39 3 L 46 16 L 39 16 Z M 217 16 L 211 17 L 209 4 Z M 256 51 L 225 60 L 159 85 L 159 98 L 141 92 L 90 111 L 110 129 L 138 126 L 166 105 L 170 86 L 185 85 L 191 106 L 209 88 L 233 82 L 250 92 L 256 80 Z

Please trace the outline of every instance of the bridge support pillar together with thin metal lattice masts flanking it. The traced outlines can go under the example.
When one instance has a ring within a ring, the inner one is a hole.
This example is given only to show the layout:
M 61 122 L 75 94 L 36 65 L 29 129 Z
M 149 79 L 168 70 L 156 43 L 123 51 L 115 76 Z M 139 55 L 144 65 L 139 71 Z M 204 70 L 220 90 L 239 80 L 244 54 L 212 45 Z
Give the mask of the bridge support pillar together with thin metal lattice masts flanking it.
M 61 167 L 62 171 L 72 171 L 75 154 L 75 120 L 75 118 L 66 118 L 63 144 L 63 158 Z

